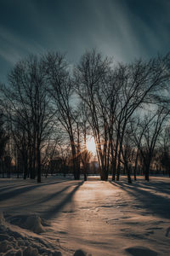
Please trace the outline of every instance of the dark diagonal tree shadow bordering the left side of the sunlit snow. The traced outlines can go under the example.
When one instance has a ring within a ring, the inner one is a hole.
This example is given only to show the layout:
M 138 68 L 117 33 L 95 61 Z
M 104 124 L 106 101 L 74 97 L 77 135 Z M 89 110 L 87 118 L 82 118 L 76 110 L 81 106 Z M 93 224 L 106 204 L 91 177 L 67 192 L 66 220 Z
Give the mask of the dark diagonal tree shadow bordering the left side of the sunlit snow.
M 78 183 L 77 186 L 74 189 L 72 189 L 71 193 L 65 196 L 65 199 L 63 201 L 60 201 L 59 204 L 50 207 L 47 211 L 43 212 L 43 218 L 49 219 L 54 218 L 54 216 L 56 217 L 58 213 L 63 209 L 63 207 L 65 207 L 66 204 L 71 202 L 73 195 L 76 193 L 77 189 L 79 189 L 80 186 L 82 186 L 83 183 L 83 181 Z

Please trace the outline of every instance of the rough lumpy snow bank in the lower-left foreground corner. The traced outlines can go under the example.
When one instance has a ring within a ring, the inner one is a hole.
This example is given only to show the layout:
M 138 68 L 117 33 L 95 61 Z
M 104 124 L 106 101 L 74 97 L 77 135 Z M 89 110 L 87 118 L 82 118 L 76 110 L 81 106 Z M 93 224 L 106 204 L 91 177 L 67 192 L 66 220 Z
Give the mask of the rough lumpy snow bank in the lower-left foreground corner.
M 53 245 L 35 234 L 45 231 L 41 218 L 37 215 L 28 216 L 26 223 L 23 225 L 28 230 L 14 224 L 9 224 L 3 217 L 3 212 L 0 212 L 0 256 L 67 255 L 67 253 L 56 250 Z M 87 253 L 77 250 L 74 255 L 84 256 Z

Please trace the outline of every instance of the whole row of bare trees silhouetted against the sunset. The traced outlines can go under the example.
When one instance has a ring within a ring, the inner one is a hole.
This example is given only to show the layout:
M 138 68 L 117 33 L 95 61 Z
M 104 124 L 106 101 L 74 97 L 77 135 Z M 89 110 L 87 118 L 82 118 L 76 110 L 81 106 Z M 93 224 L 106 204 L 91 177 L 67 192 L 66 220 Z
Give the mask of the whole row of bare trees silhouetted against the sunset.
M 59 52 L 18 61 L 0 86 L 1 168 L 20 159 L 23 177 L 41 182 L 57 153 L 87 179 L 93 136 L 101 180 L 123 170 L 132 183 L 141 170 L 149 181 L 153 166 L 170 175 L 169 82 L 169 54 L 127 64 L 92 49 L 74 67 Z

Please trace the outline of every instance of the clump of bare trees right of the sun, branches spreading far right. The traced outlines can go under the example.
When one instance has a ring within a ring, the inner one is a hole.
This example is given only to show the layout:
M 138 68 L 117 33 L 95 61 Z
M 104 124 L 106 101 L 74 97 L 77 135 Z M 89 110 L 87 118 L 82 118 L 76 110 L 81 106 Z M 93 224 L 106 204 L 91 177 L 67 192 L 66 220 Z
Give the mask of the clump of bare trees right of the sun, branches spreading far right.
M 90 115 L 101 179 L 107 180 L 111 164 L 112 179 L 119 180 L 129 119 L 144 103 L 160 101 L 161 88 L 169 80 L 168 61 L 167 55 L 111 66 L 96 50 L 82 55 L 74 72 L 75 87 Z

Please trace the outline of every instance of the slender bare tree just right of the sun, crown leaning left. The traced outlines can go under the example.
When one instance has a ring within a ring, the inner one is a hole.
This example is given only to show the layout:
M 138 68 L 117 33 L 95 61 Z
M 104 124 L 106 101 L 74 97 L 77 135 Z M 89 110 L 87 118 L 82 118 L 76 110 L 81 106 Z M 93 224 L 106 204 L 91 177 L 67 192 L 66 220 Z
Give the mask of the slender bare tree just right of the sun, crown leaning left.
M 105 75 L 109 71 L 110 64 L 111 61 L 108 58 L 104 59 L 102 55 L 92 50 L 82 55 L 81 61 L 74 71 L 77 95 L 88 107 L 88 122 L 92 128 L 96 143 L 102 180 L 107 180 L 108 178 L 106 150 L 109 141 L 106 125 L 105 96 L 102 96 L 102 91 L 104 91 Z

